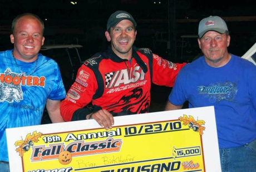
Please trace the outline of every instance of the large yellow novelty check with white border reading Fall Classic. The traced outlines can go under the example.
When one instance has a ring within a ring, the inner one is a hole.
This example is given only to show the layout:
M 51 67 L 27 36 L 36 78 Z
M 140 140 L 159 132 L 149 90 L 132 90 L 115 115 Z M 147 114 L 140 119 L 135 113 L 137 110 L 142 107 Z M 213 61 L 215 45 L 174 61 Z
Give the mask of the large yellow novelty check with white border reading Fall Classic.
M 221 171 L 213 107 L 6 131 L 12 172 Z

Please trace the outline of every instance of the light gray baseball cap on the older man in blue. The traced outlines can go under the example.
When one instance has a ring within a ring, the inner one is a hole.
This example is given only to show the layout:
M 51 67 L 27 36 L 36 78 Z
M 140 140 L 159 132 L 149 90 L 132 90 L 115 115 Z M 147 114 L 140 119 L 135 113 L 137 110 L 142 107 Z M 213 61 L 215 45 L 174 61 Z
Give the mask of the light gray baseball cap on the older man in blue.
M 228 27 L 222 18 L 218 16 L 210 16 L 200 21 L 198 27 L 199 38 L 203 37 L 208 31 L 215 31 L 223 34 L 228 31 Z

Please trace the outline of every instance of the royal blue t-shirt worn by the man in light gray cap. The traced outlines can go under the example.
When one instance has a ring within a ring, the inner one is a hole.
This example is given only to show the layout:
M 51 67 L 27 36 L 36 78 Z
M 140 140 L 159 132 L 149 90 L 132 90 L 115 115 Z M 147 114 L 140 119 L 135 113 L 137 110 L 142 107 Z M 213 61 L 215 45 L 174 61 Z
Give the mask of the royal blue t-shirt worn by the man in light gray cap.
M 256 66 L 248 60 L 232 54 L 226 65 L 213 68 L 204 57 L 196 59 L 180 70 L 169 100 L 174 105 L 188 100 L 189 108 L 213 105 L 219 148 L 256 138 Z

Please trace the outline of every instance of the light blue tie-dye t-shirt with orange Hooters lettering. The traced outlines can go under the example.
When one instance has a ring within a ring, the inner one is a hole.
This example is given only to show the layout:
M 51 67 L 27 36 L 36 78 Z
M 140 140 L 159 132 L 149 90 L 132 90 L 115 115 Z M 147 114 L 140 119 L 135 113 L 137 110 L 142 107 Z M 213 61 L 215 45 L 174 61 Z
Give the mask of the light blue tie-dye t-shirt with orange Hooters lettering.
M 36 60 L 24 63 L 16 59 L 16 64 L 12 51 L 0 52 L 0 160 L 2 161 L 9 161 L 6 128 L 40 125 L 47 99 L 61 100 L 66 95 L 60 68 L 55 60 L 38 54 L 38 62 Z M 29 76 L 31 73 L 33 74 Z

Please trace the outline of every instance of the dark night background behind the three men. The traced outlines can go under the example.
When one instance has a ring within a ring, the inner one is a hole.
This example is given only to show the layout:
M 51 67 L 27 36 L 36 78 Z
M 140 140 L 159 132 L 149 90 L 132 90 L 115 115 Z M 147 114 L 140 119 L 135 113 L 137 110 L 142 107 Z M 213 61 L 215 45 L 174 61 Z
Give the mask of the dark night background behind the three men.
M 107 19 L 118 10 L 135 18 L 137 47 L 150 48 L 172 62 L 191 62 L 200 53 L 196 38 L 181 37 L 198 34 L 200 20 L 208 16 L 220 16 L 226 21 L 230 53 L 242 56 L 256 42 L 256 3 L 249 0 L 0 0 L 0 8 L 0 50 L 13 48 L 9 41 L 12 20 L 26 12 L 37 14 L 45 22 L 45 45 L 80 44 L 82 60 L 106 49 Z M 65 49 L 41 52 L 59 63 L 67 89 L 73 82 L 70 71 L 76 72 L 80 65 L 72 50 L 75 67 L 71 67 Z M 170 90 L 152 85 L 151 112 L 163 110 Z

